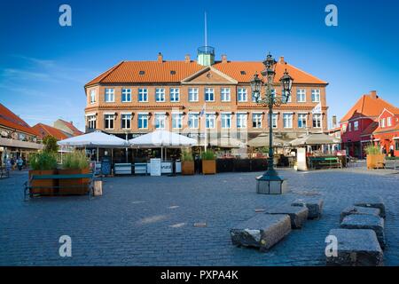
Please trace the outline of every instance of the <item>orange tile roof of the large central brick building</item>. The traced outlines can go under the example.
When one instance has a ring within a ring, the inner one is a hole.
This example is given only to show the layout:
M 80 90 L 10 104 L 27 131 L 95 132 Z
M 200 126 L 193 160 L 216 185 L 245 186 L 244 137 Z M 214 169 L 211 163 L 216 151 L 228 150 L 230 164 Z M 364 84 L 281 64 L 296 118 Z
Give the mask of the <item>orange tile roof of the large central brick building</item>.
M 239 83 L 249 83 L 255 72 L 260 74 L 264 69 L 260 61 L 217 61 L 212 67 Z M 206 67 L 197 64 L 196 61 L 122 61 L 86 83 L 85 86 L 95 83 L 179 83 L 204 68 Z M 284 62 L 276 64 L 276 82 L 281 78 L 285 69 L 293 77 L 293 83 L 327 84 L 325 81 Z M 172 70 L 176 71 L 175 75 L 171 75 L 170 71 Z M 145 74 L 140 75 L 140 71 L 144 71 Z M 241 75 L 241 71 L 245 71 L 246 74 Z

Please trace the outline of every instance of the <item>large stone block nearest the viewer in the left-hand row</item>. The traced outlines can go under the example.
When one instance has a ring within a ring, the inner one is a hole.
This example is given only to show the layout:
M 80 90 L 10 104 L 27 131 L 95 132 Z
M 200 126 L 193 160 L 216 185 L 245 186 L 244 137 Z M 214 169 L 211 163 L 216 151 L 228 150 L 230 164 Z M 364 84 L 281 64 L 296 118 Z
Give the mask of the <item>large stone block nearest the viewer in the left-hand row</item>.
M 235 246 L 260 248 L 265 251 L 291 232 L 288 215 L 256 214 L 231 228 L 231 241 Z

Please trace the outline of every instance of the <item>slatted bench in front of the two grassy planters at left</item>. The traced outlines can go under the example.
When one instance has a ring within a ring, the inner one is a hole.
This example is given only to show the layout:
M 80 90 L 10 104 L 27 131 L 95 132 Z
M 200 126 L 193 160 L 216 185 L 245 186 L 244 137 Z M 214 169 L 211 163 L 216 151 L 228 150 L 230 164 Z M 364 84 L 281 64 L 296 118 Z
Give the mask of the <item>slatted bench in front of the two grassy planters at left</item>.
M 82 185 L 66 185 L 66 186 L 32 186 L 32 181 L 34 180 L 43 180 L 43 179 L 77 179 L 77 178 L 87 178 L 89 182 L 83 183 Z M 35 188 L 52 188 L 52 189 L 59 189 L 58 193 L 54 193 L 53 195 L 68 195 L 67 191 L 62 191 L 64 188 L 87 188 L 87 194 L 90 197 L 90 193 L 94 193 L 94 173 L 90 174 L 74 174 L 74 175 L 32 175 L 27 182 L 25 182 L 25 190 L 24 190 L 24 197 L 27 200 L 27 196 L 33 197 L 35 195 L 41 195 L 40 193 L 31 193 L 32 189 Z

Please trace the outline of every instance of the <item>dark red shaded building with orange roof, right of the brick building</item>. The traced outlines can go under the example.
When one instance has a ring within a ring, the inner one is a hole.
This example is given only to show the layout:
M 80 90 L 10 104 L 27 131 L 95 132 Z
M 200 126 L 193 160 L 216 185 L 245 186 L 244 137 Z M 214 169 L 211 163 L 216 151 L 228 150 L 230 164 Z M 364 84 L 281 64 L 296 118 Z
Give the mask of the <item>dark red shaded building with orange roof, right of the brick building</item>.
M 370 91 L 357 100 L 356 104 L 340 120 L 342 149 L 353 157 L 364 158 L 364 146 L 374 139 L 373 133 L 379 127 L 379 115 L 387 109 L 395 113 L 397 108 L 379 98 L 377 91 Z

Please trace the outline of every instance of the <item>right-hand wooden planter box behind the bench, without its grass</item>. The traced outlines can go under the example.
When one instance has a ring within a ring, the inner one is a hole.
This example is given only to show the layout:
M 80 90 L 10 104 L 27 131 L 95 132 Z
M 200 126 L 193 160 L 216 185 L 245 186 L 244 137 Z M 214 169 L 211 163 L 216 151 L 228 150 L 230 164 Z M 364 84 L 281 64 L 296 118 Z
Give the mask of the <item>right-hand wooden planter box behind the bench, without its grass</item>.
M 83 170 L 59 170 L 59 175 L 78 175 L 78 174 L 89 174 L 89 173 L 90 173 L 90 168 Z M 71 194 L 71 195 L 86 194 L 89 190 L 88 187 L 89 182 L 90 182 L 89 178 L 59 179 L 59 186 L 60 186 L 59 192 L 62 194 Z

